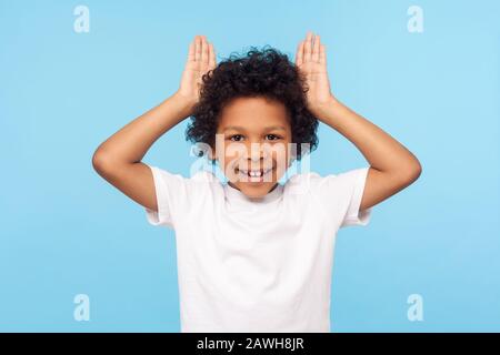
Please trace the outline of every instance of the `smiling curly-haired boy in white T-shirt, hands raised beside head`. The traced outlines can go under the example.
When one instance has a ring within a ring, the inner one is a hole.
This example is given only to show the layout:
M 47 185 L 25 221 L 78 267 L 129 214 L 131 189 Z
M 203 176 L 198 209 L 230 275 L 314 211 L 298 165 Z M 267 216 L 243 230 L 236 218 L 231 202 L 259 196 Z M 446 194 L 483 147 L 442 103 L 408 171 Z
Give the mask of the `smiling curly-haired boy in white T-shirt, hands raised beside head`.
M 208 171 L 188 179 L 141 162 L 188 116 L 187 138 L 209 148 L 227 184 Z M 317 146 L 318 120 L 370 166 L 279 183 Z M 326 49 L 311 32 L 294 64 L 252 50 L 217 65 L 213 45 L 197 36 L 179 90 L 104 141 L 92 163 L 151 224 L 176 231 L 181 332 L 330 332 L 337 231 L 368 224 L 373 205 L 421 173 L 411 152 L 331 93 Z

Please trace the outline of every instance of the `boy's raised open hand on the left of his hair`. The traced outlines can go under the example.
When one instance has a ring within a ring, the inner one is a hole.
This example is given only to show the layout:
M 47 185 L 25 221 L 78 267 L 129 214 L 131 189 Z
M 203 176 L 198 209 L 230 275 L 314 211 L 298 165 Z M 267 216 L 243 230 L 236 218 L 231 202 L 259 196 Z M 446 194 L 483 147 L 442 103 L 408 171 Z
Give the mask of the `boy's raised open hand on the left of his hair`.
M 196 104 L 200 99 L 202 77 L 216 67 L 213 44 L 207 41 L 206 36 L 196 36 L 189 45 L 188 60 L 177 93 Z

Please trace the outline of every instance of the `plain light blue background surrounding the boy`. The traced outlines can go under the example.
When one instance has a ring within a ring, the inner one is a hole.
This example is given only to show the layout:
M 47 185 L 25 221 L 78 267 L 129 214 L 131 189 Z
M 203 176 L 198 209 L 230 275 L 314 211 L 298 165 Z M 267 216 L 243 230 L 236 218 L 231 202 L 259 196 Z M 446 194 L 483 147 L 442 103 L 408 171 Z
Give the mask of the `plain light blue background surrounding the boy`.
M 90 32 L 73 31 L 78 4 Z M 407 10 L 423 9 L 423 33 Z M 333 332 L 500 331 L 499 1 L 0 1 L 0 331 L 179 332 L 173 231 L 91 166 L 96 148 L 172 94 L 189 42 L 218 62 L 327 45 L 334 94 L 420 160 L 420 179 L 339 231 Z M 144 162 L 188 175 L 188 121 Z M 321 174 L 367 166 L 320 125 Z M 90 297 L 90 322 L 73 297 Z M 410 322 L 407 298 L 423 297 Z

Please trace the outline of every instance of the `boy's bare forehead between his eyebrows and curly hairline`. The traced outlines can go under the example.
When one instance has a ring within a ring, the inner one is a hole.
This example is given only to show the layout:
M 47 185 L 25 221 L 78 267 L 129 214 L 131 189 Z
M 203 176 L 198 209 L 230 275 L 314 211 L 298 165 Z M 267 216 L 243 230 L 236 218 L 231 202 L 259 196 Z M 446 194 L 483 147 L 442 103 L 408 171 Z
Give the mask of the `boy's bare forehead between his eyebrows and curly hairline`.
M 219 131 L 228 126 L 256 129 L 266 126 L 283 126 L 289 130 L 289 118 L 286 106 L 266 98 L 238 98 L 222 110 Z

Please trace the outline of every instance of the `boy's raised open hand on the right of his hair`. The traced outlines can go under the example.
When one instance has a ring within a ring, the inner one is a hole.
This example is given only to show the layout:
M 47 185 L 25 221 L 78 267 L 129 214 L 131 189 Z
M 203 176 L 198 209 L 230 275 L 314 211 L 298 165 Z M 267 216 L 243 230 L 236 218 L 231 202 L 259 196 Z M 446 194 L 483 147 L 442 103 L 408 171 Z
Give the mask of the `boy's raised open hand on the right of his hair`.
M 307 92 L 308 108 L 318 115 L 319 110 L 334 100 L 330 90 L 327 73 L 327 54 L 320 37 L 311 31 L 299 42 L 296 65 L 306 78 L 309 88 Z

